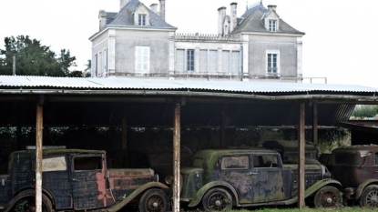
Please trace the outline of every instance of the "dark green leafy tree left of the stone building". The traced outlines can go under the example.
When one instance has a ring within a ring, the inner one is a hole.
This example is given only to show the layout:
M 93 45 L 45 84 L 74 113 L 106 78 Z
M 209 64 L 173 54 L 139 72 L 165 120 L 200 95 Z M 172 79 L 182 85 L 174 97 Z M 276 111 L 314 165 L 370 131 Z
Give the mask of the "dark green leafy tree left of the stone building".
M 28 35 L 5 37 L 5 49 L 0 49 L 0 75 L 12 75 L 13 56 L 17 76 L 71 76 L 69 68 L 77 66 L 77 58 L 69 50 L 62 49 L 56 56 L 49 46 Z

